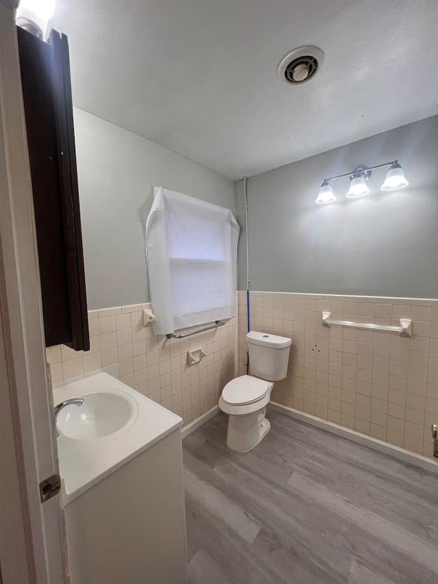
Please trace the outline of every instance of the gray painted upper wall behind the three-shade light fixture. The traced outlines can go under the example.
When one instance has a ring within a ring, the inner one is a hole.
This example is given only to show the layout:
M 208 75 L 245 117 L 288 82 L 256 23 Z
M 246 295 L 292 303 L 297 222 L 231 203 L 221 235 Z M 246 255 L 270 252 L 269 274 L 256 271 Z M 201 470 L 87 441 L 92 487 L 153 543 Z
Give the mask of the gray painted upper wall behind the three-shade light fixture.
M 349 123 L 349 120 L 345 120 Z M 348 200 L 348 178 L 333 181 L 336 203 L 315 205 L 325 177 L 398 159 L 409 186 Z M 438 297 L 438 116 L 250 177 L 250 288 L 277 292 Z M 243 181 L 237 220 L 244 228 Z M 246 288 L 244 229 L 239 289 Z

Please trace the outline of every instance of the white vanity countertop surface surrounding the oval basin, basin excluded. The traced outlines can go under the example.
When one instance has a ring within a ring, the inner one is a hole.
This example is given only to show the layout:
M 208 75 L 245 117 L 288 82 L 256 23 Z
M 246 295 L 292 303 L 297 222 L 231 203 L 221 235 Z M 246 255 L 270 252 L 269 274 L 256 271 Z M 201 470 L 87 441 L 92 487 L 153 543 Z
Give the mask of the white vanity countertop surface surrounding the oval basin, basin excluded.
M 75 440 L 60 435 L 57 438 L 64 505 L 183 424 L 179 416 L 107 373 L 56 388 L 53 402 L 57 405 L 102 390 L 116 390 L 133 398 L 138 405 L 136 419 L 105 437 Z

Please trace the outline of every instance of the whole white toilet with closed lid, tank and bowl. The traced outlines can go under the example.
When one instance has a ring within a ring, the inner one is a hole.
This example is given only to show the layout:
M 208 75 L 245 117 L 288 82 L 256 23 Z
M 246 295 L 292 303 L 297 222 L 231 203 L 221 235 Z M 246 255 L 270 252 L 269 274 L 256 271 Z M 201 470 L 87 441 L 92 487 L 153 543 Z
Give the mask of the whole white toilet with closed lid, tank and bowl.
M 292 340 L 287 337 L 250 331 L 248 342 L 250 375 L 241 375 L 225 385 L 219 407 L 229 415 L 227 446 L 235 452 L 248 452 L 270 430 L 266 405 L 274 381 L 287 374 Z

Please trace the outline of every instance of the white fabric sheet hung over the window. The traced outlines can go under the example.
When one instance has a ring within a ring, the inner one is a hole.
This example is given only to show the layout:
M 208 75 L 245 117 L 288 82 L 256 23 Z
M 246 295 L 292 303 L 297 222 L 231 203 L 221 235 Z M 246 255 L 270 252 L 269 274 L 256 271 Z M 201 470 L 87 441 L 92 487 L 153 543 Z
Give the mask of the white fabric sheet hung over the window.
M 239 226 L 229 209 L 155 188 L 146 221 L 154 333 L 235 316 Z

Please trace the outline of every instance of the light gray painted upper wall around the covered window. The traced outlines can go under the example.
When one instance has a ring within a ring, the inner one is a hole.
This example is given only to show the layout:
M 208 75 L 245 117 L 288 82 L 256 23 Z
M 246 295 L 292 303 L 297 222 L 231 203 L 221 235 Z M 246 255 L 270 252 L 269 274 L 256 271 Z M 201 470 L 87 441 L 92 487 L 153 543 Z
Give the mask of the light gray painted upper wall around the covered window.
M 144 225 L 153 187 L 235 209 L 230 179 L 74 108 L 88 308 L 149 301 Z

